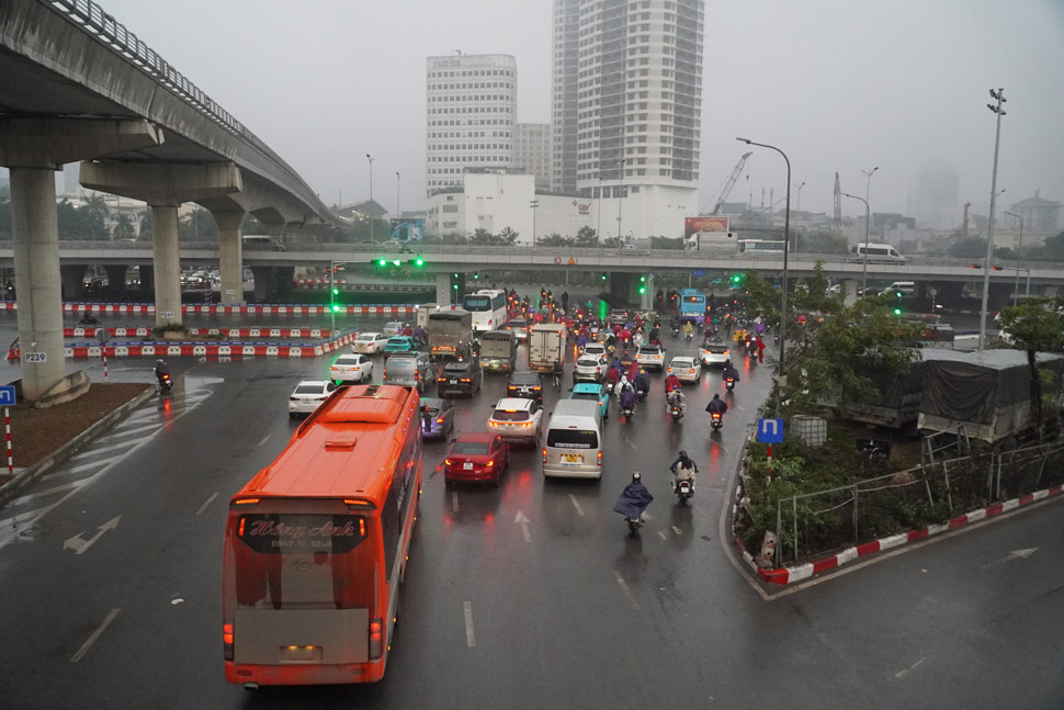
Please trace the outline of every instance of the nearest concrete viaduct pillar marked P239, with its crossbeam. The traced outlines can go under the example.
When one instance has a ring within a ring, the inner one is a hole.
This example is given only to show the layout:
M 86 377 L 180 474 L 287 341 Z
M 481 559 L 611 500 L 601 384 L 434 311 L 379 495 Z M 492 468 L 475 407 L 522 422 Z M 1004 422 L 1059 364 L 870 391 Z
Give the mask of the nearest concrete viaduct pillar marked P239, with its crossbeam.
M 66 377 L 55 171 L 87 157 L 162 142 L 147 121 L 0 119 L 0 166 L 11 173 L 22 396 L 47 407 L 83 393 Z

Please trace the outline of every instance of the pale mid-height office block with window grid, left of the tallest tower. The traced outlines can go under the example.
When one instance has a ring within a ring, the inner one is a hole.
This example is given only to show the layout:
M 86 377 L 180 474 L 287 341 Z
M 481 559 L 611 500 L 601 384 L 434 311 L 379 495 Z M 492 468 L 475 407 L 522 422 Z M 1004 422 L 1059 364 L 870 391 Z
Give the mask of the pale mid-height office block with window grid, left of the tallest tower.
M 426 188 L 460 187 L 469 169 L 513 167 L 517 61 L 507 54 L 429 57 Z

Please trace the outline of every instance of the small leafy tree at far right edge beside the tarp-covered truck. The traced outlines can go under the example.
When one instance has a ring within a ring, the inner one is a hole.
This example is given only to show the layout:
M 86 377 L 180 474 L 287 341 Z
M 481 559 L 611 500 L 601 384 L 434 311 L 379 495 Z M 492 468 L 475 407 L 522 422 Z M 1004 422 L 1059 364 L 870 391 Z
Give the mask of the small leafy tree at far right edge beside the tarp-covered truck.
M 1012 340 L 1012 347 L 1027 352 L 1031 379 L 1031 413 L 1038 442 L 1042 442 L 1042 380 L 1052 382 L 1053 373 L 1040 370 L 1038 352 L 1064 350 L 1064 301 L 1037 298 L 1017 306 L 1006 306 L 998 314 L 998 323 Z

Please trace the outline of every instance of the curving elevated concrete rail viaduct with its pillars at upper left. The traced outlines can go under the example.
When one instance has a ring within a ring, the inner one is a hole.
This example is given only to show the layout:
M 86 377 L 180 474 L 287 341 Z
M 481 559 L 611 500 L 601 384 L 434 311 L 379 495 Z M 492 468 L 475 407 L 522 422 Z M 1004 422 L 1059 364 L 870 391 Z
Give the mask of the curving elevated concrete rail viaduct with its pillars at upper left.
M 0 165 L 11 172 L 22 390 L 41 405 L 69 396 L 54 171 L 75 161 L 87 188 L 151 207 L 158 325 L 181 318 L 182 203 L 214 214 L 234 300 L 246 213 L 276 232 L 335 219 L 276 153 L 92 0 L 3 0 Z

